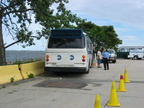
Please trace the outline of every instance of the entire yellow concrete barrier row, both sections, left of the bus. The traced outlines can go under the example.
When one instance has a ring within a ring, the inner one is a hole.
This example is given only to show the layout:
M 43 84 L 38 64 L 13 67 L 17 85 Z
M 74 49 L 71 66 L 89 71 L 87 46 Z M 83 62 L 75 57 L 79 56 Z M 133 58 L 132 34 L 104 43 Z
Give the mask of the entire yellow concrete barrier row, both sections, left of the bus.
M 39 75 L 44 72 L 44 62 L 0 66 L 0 84 L 6 84 Z

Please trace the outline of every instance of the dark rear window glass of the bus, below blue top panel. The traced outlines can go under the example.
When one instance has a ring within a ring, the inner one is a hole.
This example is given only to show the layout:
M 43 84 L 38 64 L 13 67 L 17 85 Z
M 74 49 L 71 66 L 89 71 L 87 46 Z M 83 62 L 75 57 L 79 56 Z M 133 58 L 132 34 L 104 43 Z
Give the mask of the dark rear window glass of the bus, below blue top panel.
M 48 48 L 84 48 L 82 38 L 49 38 Z

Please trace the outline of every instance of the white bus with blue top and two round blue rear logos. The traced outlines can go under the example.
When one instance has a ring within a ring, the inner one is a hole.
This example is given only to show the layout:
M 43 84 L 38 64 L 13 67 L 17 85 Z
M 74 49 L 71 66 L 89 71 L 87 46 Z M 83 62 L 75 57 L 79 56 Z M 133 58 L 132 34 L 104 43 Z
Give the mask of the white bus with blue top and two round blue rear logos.
M 89 72 L 93 44 L 82 29 L 54 29 L 48 37 L 45 71 Z

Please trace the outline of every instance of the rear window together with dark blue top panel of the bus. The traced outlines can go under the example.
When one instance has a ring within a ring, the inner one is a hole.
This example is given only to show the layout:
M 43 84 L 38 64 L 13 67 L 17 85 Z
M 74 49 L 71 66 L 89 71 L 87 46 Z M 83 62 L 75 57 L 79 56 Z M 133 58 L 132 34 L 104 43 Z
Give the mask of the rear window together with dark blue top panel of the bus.
M 48 48 L 84 48 L 84 41 L 80 29 L 56 29 L 51 31 Z

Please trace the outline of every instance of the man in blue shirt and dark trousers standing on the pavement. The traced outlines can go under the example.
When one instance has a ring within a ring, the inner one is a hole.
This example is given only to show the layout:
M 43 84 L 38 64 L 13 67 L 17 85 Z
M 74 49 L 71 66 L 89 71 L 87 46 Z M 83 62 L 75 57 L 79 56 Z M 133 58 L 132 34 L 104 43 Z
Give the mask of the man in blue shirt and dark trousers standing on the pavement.
M 102 53 L 102 57 L 103 57 L 103 64 L 104 64 L 104 70 L 109 70 L 109 62 L 108 59 L 110 57 L 108 50 L 104 50 L 104 52 Z

